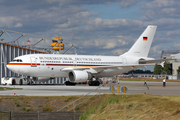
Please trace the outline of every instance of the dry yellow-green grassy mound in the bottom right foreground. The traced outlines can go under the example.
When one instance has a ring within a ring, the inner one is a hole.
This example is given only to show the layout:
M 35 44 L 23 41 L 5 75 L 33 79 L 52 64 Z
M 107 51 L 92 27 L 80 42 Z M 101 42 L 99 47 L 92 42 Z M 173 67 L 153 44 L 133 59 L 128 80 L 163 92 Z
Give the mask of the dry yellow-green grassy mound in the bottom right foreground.
M 80 120 L 179 119 L 179 101 L 179 96 L 106 95 L 99 105 L 89 107 Z

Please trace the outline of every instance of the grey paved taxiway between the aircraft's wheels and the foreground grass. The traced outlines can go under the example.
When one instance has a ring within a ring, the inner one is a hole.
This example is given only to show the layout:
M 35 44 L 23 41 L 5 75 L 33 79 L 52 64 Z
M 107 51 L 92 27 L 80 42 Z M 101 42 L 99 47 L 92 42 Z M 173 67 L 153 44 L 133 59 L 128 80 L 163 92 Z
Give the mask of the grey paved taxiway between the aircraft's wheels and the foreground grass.
M 128 91 L 126 94 L 152 94 L 152 95 L 180 95 L 180 82 L 167 82 L 163 87 L 162 82 L 147 82 L 144 86 L 143 81 L 120 81 L 117 86 L 126 86 Z M 69 96 L 69 95 L 85 95 L 95 90 L 97 86 L 88 85 L 0 85 L 0 87 L 23 88 L 23 90 L 3 90 L 0 95 L 23 95 L 23 96 Z M 95 90 L 92 94 L 111 94 L 110 85 L 104 85 L 100 89 Z M 116 92 L 117 93 L 117 92 Z M 122 92 L 120 94 L 123 94 Z

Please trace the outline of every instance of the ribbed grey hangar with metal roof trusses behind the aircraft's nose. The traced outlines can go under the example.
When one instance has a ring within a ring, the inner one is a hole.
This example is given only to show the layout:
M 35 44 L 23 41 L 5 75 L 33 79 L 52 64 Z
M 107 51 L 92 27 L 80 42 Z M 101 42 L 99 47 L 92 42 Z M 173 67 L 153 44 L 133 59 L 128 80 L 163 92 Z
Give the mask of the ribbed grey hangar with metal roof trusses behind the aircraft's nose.
M 33 39 L 35 39 L 35 42 L 29 44 L 30 40 L 28 37 L 32 37 Z M 11 30 L 0 29 L 0 79 L 2 77 L 21 76 L 6 68 L 7 63 L 12 61 L 17 56 L 26 55 L 26 54 L 53 53 L 52 49 L 50 48 L 50 45 L 47 45 L 45 42 L 47 40 L 54 40 L 54 39 L 11 31 Z M 74 43 L 66 42 L 66 41 L 63 41 L 63 43 L 70 44 L 71 47 L 68 48 L 65 52 L 61 51 L 61 54 L 68 53 L 68 51 L 71 48 L 75 48 L 72 54 L 76 54 L 77 47 Z M 39 44 L 40 46 L 43 47 L 38 47 L 37 45 Z M 36 82 L 35 84 L 63 84 L 65 81 L 66 78 L 55 78 L 54 80 L 49 80 L 49 82 L 41 82 L 41 83 Z

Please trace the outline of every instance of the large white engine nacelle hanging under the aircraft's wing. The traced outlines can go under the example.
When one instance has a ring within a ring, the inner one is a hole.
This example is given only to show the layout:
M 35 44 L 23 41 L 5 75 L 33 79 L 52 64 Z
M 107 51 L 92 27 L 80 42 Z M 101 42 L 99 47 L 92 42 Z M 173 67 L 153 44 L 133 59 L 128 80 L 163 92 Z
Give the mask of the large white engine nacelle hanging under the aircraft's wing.
M 93 77 L 91 73 L 80 70 L 73 70 L 69 72 L 68 78 L 70 82 L 85 82 Z

